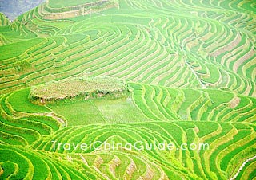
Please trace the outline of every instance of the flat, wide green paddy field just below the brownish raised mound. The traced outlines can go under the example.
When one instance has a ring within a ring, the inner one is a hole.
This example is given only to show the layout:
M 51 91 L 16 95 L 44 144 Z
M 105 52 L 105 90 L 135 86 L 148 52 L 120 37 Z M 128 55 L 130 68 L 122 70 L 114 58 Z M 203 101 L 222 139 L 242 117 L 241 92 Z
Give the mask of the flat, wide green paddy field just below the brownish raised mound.
M 58 115 L 65 117 L 69 126 L 91 123 L 133 123 L 147 120 L 134 106 L 130 96 L 86 101 L 74 99 L 47 106 Z

